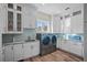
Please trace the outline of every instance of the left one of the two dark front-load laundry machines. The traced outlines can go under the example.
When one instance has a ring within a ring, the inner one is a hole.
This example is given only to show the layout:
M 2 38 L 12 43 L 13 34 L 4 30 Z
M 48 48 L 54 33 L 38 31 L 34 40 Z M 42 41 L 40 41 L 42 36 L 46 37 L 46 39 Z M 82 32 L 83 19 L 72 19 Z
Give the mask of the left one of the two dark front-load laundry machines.
M 47 33 L 41 34 L 40 41 L 40 55 L 45 55 L 50 53 L 51 37 Z

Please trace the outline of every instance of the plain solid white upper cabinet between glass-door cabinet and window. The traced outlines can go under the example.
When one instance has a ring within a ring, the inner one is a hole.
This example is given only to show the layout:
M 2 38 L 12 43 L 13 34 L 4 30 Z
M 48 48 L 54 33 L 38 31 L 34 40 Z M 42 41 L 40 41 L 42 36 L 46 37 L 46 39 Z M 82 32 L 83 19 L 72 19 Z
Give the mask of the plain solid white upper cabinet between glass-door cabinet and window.
M 35 29 L 36 8 L 32 4 L 24 4 L 23 28 Z

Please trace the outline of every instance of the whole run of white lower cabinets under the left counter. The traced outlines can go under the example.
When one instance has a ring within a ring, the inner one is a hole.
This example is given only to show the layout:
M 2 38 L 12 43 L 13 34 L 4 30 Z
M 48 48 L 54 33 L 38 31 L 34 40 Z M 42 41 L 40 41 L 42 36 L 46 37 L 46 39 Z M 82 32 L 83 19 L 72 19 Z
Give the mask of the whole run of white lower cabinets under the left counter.
M 40 42 L 28 42 L 23 44 L 7 45 L 4 46 L 3 52 L 4 62 L 17 62 L 20 59 L 33 57 L 40 54 Z

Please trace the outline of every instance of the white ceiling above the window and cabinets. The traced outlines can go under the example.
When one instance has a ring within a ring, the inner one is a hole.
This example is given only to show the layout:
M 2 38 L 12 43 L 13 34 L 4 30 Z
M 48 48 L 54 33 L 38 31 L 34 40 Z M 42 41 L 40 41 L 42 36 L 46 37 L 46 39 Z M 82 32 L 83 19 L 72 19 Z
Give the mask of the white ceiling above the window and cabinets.
M 34 3 L 39 11 L 47 14 L 57 14 L 68 7 L 70 8 L 80 3 Z

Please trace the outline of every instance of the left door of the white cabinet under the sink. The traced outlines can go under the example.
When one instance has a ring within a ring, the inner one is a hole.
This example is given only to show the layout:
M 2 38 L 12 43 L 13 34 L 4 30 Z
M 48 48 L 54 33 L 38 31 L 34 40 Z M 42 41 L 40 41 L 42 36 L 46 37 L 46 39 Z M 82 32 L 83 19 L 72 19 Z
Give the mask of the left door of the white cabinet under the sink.
M 24 58 L 31 57 L 31 44 L 30 43 L 23 44 L 23 53 L 24 53 L 23 55 Z

